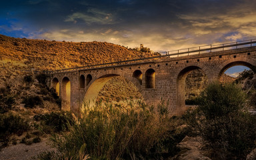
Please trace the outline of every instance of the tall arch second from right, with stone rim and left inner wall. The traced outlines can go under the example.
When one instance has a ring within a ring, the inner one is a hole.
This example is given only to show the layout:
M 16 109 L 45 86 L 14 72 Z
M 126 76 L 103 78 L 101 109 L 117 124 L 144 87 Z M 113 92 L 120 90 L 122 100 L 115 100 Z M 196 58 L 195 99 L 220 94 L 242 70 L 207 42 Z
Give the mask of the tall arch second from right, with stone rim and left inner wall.
M 210 71 L 205 68 L 204 65 L 201 64 L 190 64 L 190 65 L 184 65 L 181 67 L 179 71 L 175 73 L 175 79 L 176 79 L 176 113 L 182 114 L 185 111 L 185 80 L 187 78 L 187 75 L 193 70 L 199 69 L 202 73 L 204 73 L 207 76 L 207 79 L 209 81 L 209 73 Z

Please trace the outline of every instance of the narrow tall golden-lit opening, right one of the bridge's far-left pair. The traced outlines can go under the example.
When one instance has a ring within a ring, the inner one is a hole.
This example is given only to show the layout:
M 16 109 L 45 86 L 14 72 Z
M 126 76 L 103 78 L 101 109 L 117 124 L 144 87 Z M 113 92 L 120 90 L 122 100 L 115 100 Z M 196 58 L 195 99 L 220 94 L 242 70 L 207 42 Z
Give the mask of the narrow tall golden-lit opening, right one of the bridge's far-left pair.
M 68 77 L 64 77 L 61 85 L 62 109 L 70 111 L 71 103 L 71 83 Z

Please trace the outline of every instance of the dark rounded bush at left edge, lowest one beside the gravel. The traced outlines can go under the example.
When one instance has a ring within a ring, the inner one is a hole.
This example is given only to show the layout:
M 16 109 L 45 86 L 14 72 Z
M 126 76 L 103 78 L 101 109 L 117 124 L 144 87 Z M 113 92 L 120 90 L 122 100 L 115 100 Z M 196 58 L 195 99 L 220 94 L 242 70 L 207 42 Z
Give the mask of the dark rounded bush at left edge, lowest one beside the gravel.
M 22 135 L 29 129 L 29 123 L 19 115 L 4 113 L 0 115 L 0 139 L 4 143 L 9 141 L 11 135 Z

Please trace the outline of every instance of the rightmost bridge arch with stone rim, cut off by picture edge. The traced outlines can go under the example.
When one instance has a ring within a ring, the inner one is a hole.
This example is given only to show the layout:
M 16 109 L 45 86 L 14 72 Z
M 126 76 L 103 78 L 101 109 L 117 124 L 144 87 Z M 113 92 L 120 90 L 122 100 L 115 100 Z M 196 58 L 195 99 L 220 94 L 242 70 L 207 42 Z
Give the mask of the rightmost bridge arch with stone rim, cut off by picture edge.
M 222 63 L 221 65 L 219 65 L 217 69 L 217 75 L 216 75 L 217 80 L 219 81 L 219 79 L 221 79 L 221 75 L 223 75 L 223 73 L 225 73 L 227 69 L 237 65 L 243 65 L 245 67 L 248 67 L 251 70 L 253 70 L 254 73 L 256 73 L 256 67 L 255 67 L 256 61 L 253 61 L 252 59 L 248 59 L 245 57 L 237 57 L 237 58 L 229 59 L 224 63 Z

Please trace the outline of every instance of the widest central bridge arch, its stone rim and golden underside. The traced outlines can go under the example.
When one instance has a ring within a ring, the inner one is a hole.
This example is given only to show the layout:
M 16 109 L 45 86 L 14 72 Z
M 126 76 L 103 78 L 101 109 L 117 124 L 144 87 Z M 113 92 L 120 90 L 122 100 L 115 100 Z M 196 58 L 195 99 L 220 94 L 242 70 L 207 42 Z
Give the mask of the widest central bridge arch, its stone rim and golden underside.
M 107 73 L 101 73 L 97 77 L 91 80 L 91 83 L 89 83 L 88 89 L 83 98 L 83 103 L 85 103 L 85 105 L 87 105 L 88 107 L 93 107 L 95 105 L 99 92 L 101 91 L 103 86 L 108 81 L 118 76 L 125 77 L 127 80 L 131 81 L 131 83 L 133 83 L 133 85 L 137 87 L 138 91 L 141 93 L 142 97 L 145 99 L 145 95 L 142 91 L 141 84 L 139 83 L 137 78 L 132 77 L 132 75 L 129 75 L 124 72 L 107 71 Z M 83 107 L 84 107 L 84 104 L 83 104 Z

